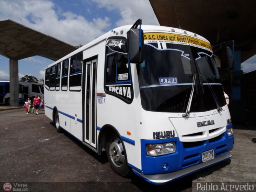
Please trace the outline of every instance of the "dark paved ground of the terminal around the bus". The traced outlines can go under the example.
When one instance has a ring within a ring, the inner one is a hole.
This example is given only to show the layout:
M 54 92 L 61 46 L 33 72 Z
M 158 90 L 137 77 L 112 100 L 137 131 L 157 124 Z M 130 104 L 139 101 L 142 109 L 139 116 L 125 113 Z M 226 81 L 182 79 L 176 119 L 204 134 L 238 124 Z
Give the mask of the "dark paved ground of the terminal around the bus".
M 2 109 L 2 110 L 1 110 Z M 67 133 L 59 134 L 42 110 L 0 106 L 0 191 L 4 182 L 29 191 L 191 191 L 195 182 L 256 182 L 256 128 L 234 125 L 232 160 L 155 186 L 135 174 L 115 174 L 106 155 L 98 156 Z M 256 188 L 255 188 L 256 189 Z

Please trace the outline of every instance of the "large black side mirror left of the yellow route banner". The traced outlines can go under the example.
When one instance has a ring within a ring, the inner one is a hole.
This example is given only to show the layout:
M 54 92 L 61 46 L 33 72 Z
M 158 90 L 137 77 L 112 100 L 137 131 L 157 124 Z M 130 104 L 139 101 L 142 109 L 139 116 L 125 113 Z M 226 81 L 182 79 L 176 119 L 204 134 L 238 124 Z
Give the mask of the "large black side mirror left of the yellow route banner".
M 128 57 L 130 63 L 142 63 L 144 61 L 143 54 L 143 30 L 131 28 L 128 31 Z

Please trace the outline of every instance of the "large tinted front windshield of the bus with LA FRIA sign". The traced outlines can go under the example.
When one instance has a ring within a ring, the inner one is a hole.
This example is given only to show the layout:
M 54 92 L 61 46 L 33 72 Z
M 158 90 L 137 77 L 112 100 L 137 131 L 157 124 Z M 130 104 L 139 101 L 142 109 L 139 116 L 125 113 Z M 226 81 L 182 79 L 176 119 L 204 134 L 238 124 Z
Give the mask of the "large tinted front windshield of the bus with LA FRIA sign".
M 142 107 L 154 112 L 186 112 L 193 77 L 190 112 L 226 104 L 212 52 L 195 46 L 145 43 L 144 62 L 137 64 Z

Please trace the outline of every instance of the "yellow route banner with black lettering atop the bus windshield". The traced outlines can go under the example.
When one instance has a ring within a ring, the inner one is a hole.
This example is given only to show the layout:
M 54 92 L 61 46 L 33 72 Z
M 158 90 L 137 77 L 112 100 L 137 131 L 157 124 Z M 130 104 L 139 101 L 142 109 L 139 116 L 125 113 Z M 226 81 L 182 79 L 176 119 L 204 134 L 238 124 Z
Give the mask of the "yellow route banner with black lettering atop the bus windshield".
M 211 45 L 203 40 L 172 33 L 144 33 L 144 43 L 172 43 L 198 47 L 212 52 Z

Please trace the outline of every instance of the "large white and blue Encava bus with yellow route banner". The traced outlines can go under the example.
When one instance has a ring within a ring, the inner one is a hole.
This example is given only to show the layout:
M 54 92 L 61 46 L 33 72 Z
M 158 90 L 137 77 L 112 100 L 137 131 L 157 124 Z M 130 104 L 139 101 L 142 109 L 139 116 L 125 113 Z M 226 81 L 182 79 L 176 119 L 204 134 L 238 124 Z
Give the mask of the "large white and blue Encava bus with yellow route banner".
M 44 88 L 57 131 L 106 150 L 121 176 L 163 184 L 231 158 L 213 52 L 192 32 L 141 20 L 116 28 L 47 66 Z

